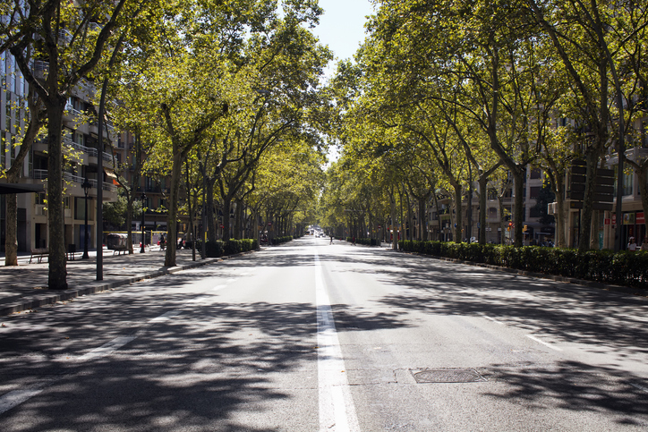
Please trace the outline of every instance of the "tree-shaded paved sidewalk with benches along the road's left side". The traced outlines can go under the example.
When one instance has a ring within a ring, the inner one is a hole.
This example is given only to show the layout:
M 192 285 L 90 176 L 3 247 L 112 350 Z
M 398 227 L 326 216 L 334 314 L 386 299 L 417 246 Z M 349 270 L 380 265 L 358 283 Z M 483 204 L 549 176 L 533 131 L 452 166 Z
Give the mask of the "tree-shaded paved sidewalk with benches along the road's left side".
M 176 253 L 176 267 L 164 267 L 165 252 L 157 247 L 147 249 L 143 254 L 115 257 L 112 250 L 104 250 L 103 281 L 97 281 L 96 255 L 91 254 L 90 259 L 80 259 L 81 255 L 77 254 L 75 260 L 67 262 L 67 284 L 70 288 L 65 291 L 47 290 L 47 262 L 36 264 L 35 259 L 28 264 L 29 259 L 19 257 L 18 267 L 0 267 L 0 316 L 221 260 L 200 259 L 197 251 L 196 261 L 192 261 L 192 250 L 177 250 Z

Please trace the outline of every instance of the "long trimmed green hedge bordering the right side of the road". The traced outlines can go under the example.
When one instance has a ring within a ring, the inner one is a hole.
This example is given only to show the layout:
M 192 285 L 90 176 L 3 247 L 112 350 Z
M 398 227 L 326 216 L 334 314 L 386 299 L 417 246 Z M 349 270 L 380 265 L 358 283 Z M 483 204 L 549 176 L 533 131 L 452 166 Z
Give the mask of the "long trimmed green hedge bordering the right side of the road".
M 398 249 L 604 284 L 648 288 L 648 253 L 645 252 L 579 252 L 541 246 L 516 248 L 496 244 L 411 240 L 398 241 Z

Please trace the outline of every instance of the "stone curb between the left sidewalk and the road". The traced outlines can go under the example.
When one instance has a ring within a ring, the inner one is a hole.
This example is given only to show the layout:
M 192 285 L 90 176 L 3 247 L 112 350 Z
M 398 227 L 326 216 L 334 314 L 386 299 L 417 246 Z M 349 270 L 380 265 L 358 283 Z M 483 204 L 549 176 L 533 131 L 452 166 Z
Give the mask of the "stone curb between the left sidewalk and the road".
M 163 270 L 158 270 L 143 275 L 137 275 L 120 279 L 114 282 L 98 282 L 82 286 L 81 288 L 72 288 L 61 292 L 47 292 L 47 294 L 34 294 L 29 297 L 24 297 L 21 301 L 14 301 L 0 306 L 0 316 L 11 315 L 13 313 L 22 312 L 24 310 L 37 309 L 48 304 L 54 304 L 57 301 L 70 301 L 82 295 L 95 294 L 97 292 L 106 292 L 119 286 L 133 284 L 135 282 L 143 281 L 145 279 L 154 279 L 163 275 L 172 275 L 177 272 L 188 270 L 190 268 L 206 266 L 215 262 L 223 261 L 224 259 L 234 258 L 241 256 L 243 253 L 235 254 L 224 258 L 206 258 L 200 261 L 192 262 L 191 264 L 184 264 L 183 266 L 168 267 Z

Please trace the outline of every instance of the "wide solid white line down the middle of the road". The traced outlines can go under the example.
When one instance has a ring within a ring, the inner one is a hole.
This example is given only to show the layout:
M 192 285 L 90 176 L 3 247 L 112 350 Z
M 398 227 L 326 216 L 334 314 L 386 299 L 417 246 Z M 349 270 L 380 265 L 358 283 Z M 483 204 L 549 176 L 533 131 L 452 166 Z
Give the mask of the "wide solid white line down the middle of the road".
M 315 250 L 315 298 L 319 346 L 317 364 L 320 431 L 360 431 L 317 250 Z

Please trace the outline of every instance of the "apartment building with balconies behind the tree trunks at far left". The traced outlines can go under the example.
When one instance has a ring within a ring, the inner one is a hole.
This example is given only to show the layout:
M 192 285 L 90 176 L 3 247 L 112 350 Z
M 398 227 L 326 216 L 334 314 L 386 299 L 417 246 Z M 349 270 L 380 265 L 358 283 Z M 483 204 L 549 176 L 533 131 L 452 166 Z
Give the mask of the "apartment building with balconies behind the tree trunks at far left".
M 35 76 L 43 78 L 47 72 L 46 62 L 36 61 L 32 64 Z M 0 60 L 0 126 L 4 138 L 0 153 L 3 168 L 12 165 L 21 145 L 21 131 L 26 122 L 28 83 L 13 62 L 9 53 Z M 85 205 L 86 194 L 83 188 L 85 180 L 90 187 L 88 191 L 88 224 L 90 248 L 95 248 L 95 229 L 97 221 L 97 188 L 103 189 L 104 201 L 117 199 L 117 187 L 114 174 L 109 169 L 98 172 L 98 157 L 103 158 L 103 165 L 111 164 L 114 154 L 107 145 L 107 140 L 116 140 L 111 125 L 107 125 L 102 144 L 98 142 L 98 122 L 91 100 L 96 89 L 87 80 L 81 80 L 73 90 L 64 114 L 64 222 L 65 242 L 68 248 L 82 250 L 85 239 Z M 42 184 L 45 192 L 24 193 L 18 199 L 18 250 L 29 251 L 35 248 L 47 248 L 49 231 L 47 226 L 47 139 L 34 143 L 21 170 L 20 183 Z M 5 202 L 0 201 L 0 250 L 4 251 L 5 239 Z

